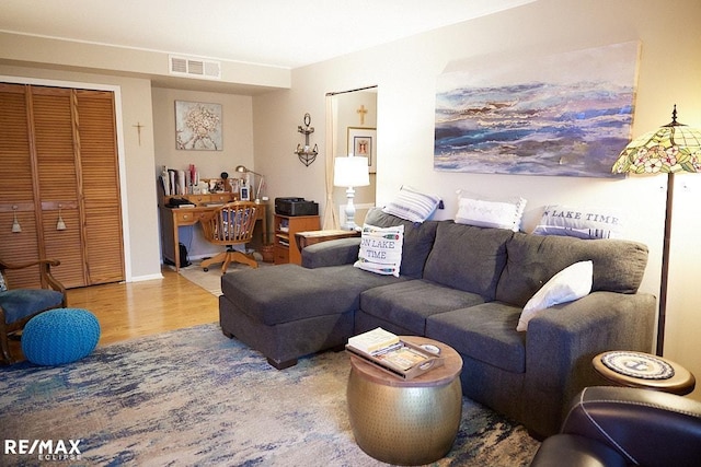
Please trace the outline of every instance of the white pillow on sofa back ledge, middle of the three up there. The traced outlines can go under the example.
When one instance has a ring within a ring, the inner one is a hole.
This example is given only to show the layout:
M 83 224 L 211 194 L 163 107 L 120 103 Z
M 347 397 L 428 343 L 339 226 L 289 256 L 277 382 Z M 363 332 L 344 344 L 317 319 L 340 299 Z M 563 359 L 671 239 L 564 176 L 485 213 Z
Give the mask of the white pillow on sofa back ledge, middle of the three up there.
M 456 223 L 518 232 L 526 209 L 524 198 L 489 199 L 458 190 Z

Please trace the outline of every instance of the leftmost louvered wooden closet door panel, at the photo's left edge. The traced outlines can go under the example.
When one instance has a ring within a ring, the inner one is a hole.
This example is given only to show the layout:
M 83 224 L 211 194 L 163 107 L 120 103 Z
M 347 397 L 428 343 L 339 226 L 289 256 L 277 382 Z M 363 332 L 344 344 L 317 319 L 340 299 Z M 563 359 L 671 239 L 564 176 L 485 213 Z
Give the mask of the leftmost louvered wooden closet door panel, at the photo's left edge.
M 26 108 L 24 85 L 0 83 L 0 257 L 9 262 L 39 256 Z M 21 232 L 12 232 L 14 215 Z M 7 279 L 13 287 L 36 285 L 38 268 L 8 271 Z

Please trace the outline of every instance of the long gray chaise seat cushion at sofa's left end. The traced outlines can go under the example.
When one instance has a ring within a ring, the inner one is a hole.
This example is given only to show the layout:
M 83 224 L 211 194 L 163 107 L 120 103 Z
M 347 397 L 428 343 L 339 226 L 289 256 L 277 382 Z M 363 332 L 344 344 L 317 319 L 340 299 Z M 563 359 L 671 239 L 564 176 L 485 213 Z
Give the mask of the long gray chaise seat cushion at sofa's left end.
M 279 265 L 221 277 L 221 291 L 246 315 L 273 326 L 358 310 L 360 292 L 402 281 L 352 265 L 307 269 Z

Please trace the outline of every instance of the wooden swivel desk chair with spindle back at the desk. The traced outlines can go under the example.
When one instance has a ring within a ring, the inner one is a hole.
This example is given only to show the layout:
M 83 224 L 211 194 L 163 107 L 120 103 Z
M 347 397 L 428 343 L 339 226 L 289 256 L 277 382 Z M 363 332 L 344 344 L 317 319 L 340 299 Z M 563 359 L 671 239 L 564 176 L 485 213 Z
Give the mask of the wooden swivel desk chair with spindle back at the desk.
M 244 245 L 253 237 L 257 206 L 250 201 L 235 201 L 223 205 L 214 212 L 205 215 L 202 221 L 202 229 L 205 238 L 215 244 L 227 247 L 226 252 L 212 258 L 202 261 L 205 271 L 209 266 L 221 262 L 221 273 L 227 273 L 230 262 L 242 262 L 252 268 L 257 268 L 258 264 L 244 252 L 234 249 L 234 245 Z

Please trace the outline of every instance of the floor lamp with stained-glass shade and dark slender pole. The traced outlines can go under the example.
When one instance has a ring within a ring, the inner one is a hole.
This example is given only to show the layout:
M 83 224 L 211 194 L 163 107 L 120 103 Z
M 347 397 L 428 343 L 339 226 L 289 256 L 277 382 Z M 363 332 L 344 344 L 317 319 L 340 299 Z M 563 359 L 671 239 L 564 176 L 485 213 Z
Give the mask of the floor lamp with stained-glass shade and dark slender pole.
M 613 164 L 612 172 L 617 174 L 667 174 L 665 240 L 662 249 L 657 347 L 655 352 L 662 357 L 665 346 L 665 319 L 667 316 L 667 279 L 669 276 L 675 173 L 701 172 L 701 129 L 678 122 L 677 106 L 675 105 L 671 113 L 671 122 L 631 141 L 623 149 L 616 164 Z

